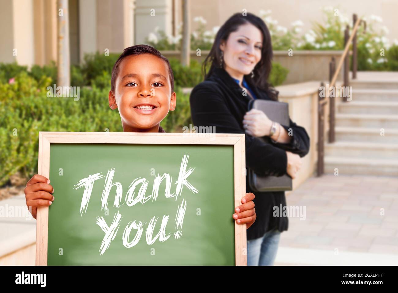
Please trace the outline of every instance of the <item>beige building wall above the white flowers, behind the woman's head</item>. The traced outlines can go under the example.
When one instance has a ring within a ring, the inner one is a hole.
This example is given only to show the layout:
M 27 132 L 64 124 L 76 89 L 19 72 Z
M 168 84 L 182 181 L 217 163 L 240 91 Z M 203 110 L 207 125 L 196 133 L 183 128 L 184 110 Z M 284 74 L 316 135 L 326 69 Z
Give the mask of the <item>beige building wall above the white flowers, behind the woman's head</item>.
M 222 25 L 232 14 L 248 12 L 259 14 L 260 10 L 271 10 L 271 17 L 278 24 L 291 28 L 291 23 L 301 20 L 304 23 L 303 31 L 312 28 L 312 22 L 321 22 L 324 18 L 322 9 L 326 6 L 338 8 L 339 12 L 352 21 L 352 14 L 359 17 L 372 14 L 380 16 L 383 20 L 381 26 L 386 26 L 390 33 L 387 37 L 392 41 L 398 39 L 398 26 L 396 14 L 398 12 L 397 0 L 201 0 L 191 1 L 191 22 L 193 28 L 196 24 L 193 19 L 203 16 L 207 20 L 207 29 Z

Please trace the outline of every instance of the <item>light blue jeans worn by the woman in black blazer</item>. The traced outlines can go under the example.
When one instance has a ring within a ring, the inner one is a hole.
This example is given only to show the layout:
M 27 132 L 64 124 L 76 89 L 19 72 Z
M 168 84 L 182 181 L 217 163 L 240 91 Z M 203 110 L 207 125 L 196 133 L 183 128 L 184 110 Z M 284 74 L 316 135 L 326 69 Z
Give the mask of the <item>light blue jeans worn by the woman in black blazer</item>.
M 248 240 L 248 265 L 272 265 L 278 251 L 279 230 L 271 230 L 263 237 Z

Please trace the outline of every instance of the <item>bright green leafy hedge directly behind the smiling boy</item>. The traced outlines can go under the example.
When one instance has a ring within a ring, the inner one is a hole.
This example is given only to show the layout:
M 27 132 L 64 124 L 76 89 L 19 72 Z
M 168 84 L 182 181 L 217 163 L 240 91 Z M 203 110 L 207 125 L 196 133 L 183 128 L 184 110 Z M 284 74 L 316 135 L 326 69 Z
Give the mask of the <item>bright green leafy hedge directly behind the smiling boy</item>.
M 42 85 L 26 72 L 13 84 L 0 83 L 0 186 L 20 171 L 37 173 L 39 131 L 123 132 L 117 110 L 108 106 L 109 87 L 80 88 L 80 99 L 49 98 Z M 178 107 L 162 121 L 166 132 L 189 125 L 189 96 L 177 90 Z

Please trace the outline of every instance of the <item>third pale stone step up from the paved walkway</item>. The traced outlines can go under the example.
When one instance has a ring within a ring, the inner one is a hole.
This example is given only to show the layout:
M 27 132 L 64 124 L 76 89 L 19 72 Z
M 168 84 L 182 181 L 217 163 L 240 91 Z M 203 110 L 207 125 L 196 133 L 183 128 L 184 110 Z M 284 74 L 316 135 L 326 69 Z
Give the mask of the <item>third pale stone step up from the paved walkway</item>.
M 384 135 L 380 135 L 380 128 L 336 126 L 334 129 L 337 142 L 370 142 L 379 144 L 398 143 L 397 129 L 385 128 Z

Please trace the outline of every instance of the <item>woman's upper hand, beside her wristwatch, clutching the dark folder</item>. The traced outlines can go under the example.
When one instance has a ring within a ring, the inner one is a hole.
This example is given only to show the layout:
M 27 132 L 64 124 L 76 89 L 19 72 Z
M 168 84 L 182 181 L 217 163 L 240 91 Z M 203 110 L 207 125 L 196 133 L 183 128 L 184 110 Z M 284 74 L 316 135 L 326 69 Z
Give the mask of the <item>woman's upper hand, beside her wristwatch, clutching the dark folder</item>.
M 252 109 L 243 116 L 243 127 L 251 136 L 269 136 L 271 126 L 272 121 L 263 111 Z

